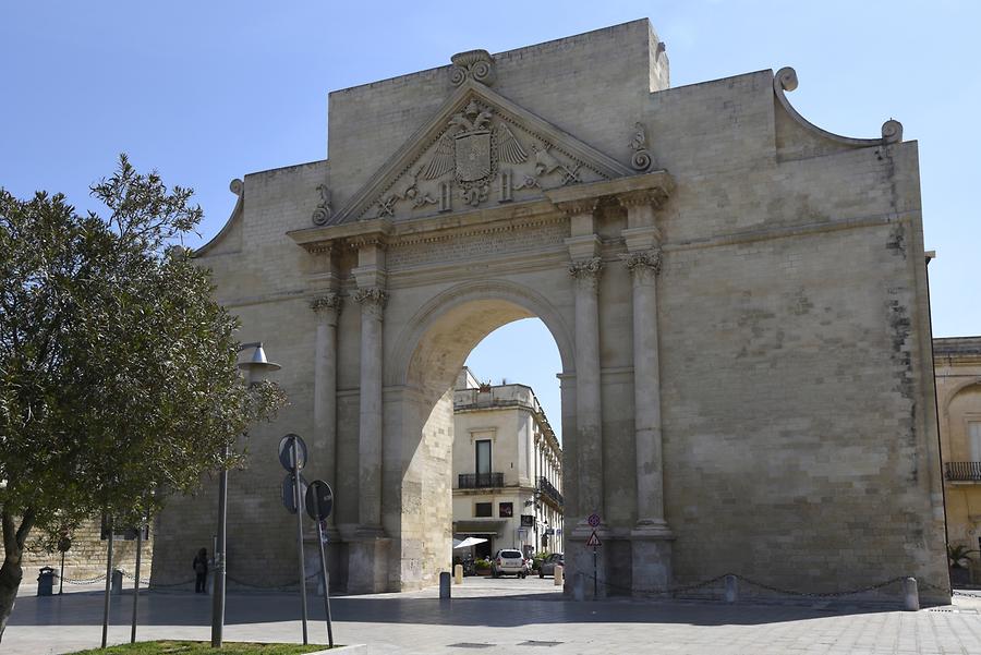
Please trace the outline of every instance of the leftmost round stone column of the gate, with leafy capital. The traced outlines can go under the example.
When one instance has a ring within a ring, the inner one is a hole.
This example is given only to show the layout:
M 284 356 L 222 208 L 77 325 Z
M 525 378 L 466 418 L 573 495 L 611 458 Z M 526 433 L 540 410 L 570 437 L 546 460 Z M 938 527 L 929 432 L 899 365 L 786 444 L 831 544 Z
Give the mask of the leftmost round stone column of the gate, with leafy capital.
M 315 442 L 323 448 L 322 464 L 331 486 L 337 484 L 337 317 L 341 299 L 327 293 L 311 303 L 317 315 L 317 340 L 314 352 L 314 430 Z M 327 531 L 336 541 L 334 512 L 327 519 Z

